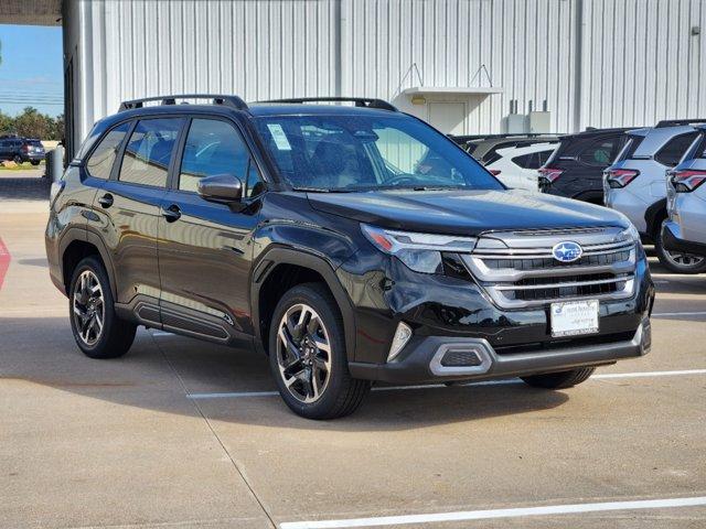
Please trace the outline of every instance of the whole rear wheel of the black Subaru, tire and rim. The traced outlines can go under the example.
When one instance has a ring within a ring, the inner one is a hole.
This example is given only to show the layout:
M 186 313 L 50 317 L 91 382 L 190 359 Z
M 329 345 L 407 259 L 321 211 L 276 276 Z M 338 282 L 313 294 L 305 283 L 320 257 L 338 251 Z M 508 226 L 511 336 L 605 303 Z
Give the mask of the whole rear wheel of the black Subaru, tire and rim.
M 132 345 L 137 325 L 116 315 L 108 274 L 94 256 L 83 259 L 74 270 L 68 310 L 74 339 L 86 356 L 117 358 Z

